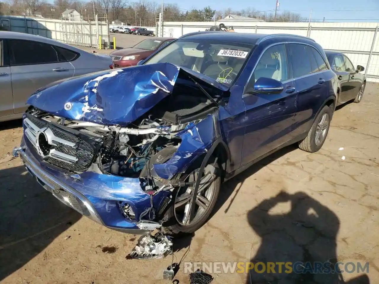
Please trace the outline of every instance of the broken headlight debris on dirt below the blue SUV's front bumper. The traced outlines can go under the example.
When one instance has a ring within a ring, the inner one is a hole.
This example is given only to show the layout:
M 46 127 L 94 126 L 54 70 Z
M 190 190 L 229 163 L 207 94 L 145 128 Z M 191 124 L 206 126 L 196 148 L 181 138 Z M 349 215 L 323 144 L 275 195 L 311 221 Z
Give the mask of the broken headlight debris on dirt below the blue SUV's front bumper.
M 158 231 L 154 236 L 151 233 L 139 238 L 137 245 L 127 255 L 127 259 L 153 259 L 166 257 L 172 254 L 171 237 Z

